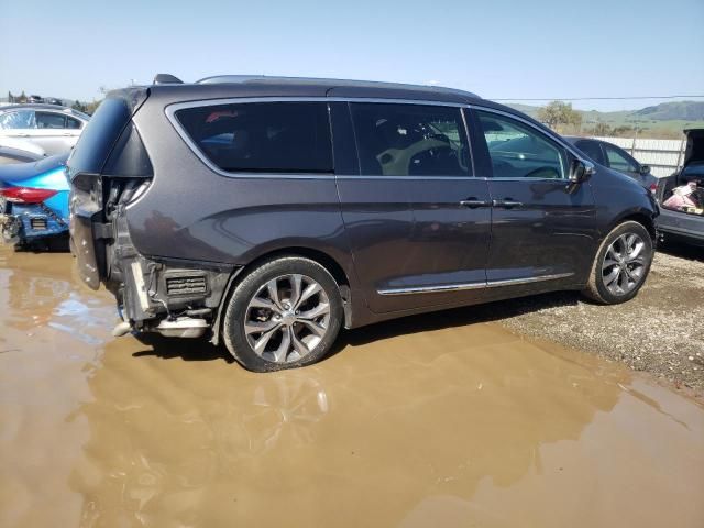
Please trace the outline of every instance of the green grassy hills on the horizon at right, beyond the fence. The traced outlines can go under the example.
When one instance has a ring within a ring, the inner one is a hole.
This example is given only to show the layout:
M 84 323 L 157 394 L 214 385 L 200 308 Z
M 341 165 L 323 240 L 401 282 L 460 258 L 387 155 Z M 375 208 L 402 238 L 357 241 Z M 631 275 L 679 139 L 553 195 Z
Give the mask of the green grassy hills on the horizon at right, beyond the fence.
M 540 107 L 509 103 L 516 110 L 536 118 Z M 672 101 L 646 107 L 640 110 L 600 112 L 597 110 L 578 110 L 582 114 L 582 129 L 593 128 L 597 123 L 615 129 L 630 127 L 641 129 L 641 138 L 680 138 L 683 129 L 704 128 L 704 101 Z

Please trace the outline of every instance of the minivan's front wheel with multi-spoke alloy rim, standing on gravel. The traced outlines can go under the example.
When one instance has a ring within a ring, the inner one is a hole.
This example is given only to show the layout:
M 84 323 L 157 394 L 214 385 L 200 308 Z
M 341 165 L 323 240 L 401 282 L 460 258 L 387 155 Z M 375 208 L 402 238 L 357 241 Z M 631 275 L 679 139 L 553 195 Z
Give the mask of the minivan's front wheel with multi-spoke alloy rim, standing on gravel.
M 584 295 L 604 305 L 632 299 L 646 282 L 652 255 L 652 239 L 642 224 L 618 224 L 596 253 Z

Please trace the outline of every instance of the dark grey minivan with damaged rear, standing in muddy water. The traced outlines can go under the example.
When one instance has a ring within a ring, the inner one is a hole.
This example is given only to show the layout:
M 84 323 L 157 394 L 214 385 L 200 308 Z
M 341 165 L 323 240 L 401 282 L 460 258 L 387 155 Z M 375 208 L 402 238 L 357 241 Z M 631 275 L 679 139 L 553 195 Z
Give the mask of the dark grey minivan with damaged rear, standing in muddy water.
M 116 334 L 208 334 L 246 369 L 342 326 L 541 292 L 630 299 L 657 205 L 460 90 L 224 76 L 111 92 L 68 161 L 80 275 Z

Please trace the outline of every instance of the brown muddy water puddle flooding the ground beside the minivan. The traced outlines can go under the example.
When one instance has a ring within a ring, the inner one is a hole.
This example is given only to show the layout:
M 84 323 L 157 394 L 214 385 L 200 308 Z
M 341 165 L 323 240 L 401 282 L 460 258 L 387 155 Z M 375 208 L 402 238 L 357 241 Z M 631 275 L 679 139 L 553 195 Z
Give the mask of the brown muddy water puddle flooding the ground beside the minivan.
M 0 249 L 0 526 L 704 526 L 704 410 L 472 319 L 256 375 Z

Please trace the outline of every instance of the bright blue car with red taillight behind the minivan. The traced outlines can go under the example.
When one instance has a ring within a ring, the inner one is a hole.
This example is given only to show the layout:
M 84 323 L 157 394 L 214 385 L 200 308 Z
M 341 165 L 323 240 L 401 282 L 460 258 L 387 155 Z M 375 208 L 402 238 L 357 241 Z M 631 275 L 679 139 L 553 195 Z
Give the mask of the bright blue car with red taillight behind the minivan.
M 68 153 L 0 166 L 0 230 L 7 243 L 53 244 L 68 234 Z

